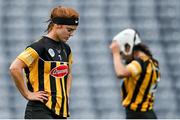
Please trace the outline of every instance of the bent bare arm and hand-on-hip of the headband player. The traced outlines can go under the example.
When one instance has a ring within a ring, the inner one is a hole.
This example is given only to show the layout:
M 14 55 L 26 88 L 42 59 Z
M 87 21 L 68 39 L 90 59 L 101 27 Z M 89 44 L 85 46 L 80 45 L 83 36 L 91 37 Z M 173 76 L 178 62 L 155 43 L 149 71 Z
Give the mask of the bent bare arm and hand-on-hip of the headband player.
M 28 50 L 23 52 L 20 56 L 31 56 L 28 55 L 29 52 Z M 25 55 L 24 55 L 25 54 Z M 28 58 L 27 58 L 28 59 Z M 24 96 L 27 100 L 38 100 L 43 102 L 43 100 L 47 100 L 48 96 L 46 94 L 46 92 L 44 91 L 39 91 L 39 92 L 30 92 L 24 82 L 24 75 L 23 75 L 23 69 L 27 67 L 27 64 L 20 60 L 19 58 L 16 58 L 9 70 L 10 70 L 10 74 L 15 82 L 16 87 L 18 88 L 18 90 L 20 91 L 20 93 L 22 94 L 22 96 Z

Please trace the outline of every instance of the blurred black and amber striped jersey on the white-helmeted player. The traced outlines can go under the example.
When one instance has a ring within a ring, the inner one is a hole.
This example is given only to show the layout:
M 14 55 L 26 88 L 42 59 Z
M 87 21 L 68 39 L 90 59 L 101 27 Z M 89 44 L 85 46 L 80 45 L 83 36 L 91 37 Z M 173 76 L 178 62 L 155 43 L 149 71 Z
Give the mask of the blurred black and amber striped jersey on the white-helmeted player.
M 133 111 L 153 109 L 154 94 L 160 78 L 159 65 L 148 57 L 136 58 L 127 65 L 131 76 L 122 84 L 122 105 Z

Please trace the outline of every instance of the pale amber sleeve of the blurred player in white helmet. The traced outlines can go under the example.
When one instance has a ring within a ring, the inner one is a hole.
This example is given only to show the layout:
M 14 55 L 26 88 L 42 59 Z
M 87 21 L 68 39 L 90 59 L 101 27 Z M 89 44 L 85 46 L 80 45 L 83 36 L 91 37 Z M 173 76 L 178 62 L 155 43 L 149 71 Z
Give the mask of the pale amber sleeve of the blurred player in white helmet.
M 127 69 L 130 71 L 132 77 L 139 75 L 142 72 L 142 67 L 140 63 L 136 60 L 133 60 L 127 65 Z

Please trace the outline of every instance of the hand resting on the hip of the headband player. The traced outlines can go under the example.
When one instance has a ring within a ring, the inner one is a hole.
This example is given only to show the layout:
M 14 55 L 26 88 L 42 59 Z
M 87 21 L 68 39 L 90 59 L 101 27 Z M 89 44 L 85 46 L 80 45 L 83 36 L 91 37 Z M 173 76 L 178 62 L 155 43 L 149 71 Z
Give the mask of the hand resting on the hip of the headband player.
M 48 101 L 48 94 L 45 91 L 29 92 L 27 96 L 28 100 L 31 101 Z

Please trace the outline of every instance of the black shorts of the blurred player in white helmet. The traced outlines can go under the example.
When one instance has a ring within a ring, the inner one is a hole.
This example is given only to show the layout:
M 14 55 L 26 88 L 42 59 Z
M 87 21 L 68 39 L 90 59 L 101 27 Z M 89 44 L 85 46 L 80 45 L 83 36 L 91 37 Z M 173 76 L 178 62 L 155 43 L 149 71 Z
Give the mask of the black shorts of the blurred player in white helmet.
M 157 119 L 157 116 L 153 110 L 139 112 L 126 108 L 126 119 Z

